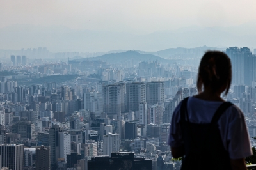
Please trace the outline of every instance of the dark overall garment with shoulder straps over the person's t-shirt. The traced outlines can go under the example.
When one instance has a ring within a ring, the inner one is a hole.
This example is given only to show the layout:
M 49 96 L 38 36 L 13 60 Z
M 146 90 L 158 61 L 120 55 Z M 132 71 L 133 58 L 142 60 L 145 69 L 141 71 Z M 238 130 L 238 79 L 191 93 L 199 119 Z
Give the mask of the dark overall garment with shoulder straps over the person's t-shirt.
M 233 104 L 223 102 L 214 113 L 211 123 L 198 124 L 189 121 L 187 103 L 188 98 L 185 98 L 180 110 L 185 151 L 181 170 L 232 169 L 229 153 L 223 146 L 218 120 L 223 112 Z

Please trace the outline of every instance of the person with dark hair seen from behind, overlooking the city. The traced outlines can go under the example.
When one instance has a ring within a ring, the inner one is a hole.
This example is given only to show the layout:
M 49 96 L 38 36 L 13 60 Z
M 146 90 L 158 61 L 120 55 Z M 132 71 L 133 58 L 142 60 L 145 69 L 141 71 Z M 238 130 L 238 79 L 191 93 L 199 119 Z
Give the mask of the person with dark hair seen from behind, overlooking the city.
M 230 58 L 218 51 L 204 54 L 198 68 L 198 95 L 187 97 L 172 115 L 168 144 L 181 169 L 246 169 L 252 155 L 243 112 L 225 102 L 232 81 Z

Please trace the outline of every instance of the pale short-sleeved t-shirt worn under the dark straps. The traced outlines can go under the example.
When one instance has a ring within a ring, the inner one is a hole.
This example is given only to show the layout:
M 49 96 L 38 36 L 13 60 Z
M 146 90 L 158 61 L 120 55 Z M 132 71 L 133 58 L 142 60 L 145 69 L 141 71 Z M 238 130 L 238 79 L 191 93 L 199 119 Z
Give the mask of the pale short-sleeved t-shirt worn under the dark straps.
M 187 105 L 189 121 L 191 123 L 211 123 L 214 113 L 222 103 L 189 97 Z M 184 143 L 180 127 L 180 106 L 181 102 L 173 112 L 170 126 L 168 144 L 172 147 L 179 147 Z M 218 125 L 224 148 L 229 152 L 231 159 L 252 155 L 244 115 L 236 105 L 228 107 L 218 120 Z

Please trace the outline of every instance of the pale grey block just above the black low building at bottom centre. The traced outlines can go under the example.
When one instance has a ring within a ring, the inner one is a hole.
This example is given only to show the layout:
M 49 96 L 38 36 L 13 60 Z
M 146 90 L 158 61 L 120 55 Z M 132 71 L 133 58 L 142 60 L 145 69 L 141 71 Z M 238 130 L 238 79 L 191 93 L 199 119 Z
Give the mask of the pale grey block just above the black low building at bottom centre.
M 120 151 L 119 134 L 108 133 L 104 135 L 103 155 L 111 155 L 111 153 Z

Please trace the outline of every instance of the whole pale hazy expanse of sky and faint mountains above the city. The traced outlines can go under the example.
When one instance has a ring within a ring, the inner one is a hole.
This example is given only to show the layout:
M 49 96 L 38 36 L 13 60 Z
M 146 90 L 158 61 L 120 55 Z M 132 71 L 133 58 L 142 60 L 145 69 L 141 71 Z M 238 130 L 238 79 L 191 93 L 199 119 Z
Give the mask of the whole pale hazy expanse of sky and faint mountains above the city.
M 256 47 L 254 1 L 1 1 L 0 47 L 107 52 Z

